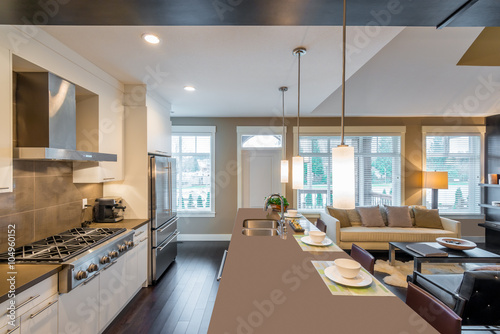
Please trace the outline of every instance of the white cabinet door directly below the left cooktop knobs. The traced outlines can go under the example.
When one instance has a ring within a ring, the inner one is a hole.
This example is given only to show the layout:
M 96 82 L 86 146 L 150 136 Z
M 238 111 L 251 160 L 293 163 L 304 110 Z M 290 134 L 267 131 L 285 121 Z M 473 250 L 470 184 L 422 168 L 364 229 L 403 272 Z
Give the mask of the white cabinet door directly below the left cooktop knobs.
M 59 333 L 97 334 L 99 331 L 99 276 L 96 276 L 59 296 Z

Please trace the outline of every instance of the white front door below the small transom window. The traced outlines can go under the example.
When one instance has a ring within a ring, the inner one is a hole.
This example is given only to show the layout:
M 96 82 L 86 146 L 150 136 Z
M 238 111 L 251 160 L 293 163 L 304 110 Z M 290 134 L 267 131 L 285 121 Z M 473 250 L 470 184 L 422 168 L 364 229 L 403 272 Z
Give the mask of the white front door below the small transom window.
M 281 191 L 280 161 L 281 148 L 241 151 L 244 208 L 262 208 L 267 196 Z

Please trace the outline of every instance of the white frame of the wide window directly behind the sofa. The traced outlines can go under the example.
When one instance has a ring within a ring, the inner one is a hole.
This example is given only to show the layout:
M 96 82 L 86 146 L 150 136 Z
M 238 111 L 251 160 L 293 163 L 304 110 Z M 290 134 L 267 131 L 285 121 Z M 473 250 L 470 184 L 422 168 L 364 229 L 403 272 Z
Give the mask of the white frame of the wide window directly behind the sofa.
M 301 126 L 301 136 L 340 136 L 340 126 Z M 401 137 L 401 205 L 405 205 L 405 135 L 406 126 L 345 126 L 344 135 L 348 136 L 400 136 Z M 298 154 L 297 127 L 293 127 L 293 156 Z M 293 190 L 293 203 L 297 203 L 297 190 Z M 301 212 L 318 213 L 318 209 L 301 209 Z

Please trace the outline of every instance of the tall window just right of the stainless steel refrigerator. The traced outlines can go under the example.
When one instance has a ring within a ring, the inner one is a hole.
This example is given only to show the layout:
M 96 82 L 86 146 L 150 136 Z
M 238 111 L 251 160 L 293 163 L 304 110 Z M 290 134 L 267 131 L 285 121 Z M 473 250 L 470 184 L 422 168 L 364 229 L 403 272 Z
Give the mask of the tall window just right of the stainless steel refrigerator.
M 172 156 L 177 161 L 177 211 L 182 216 L 215 215 L 215 127 L 172 127 Z

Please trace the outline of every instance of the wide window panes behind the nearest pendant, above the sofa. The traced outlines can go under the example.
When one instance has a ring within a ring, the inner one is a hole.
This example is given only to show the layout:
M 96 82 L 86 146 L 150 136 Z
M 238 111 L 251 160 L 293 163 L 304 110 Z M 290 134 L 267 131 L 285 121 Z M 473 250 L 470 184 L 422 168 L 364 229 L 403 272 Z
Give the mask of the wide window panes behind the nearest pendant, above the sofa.
M 354 147 L 356 205 L 401 204 L 401 135 L 346 136 Z M 332 148 L 340 136 L 301 135 L 304 189 L 297 191 L 299 209 L 322 209 L 332 203 Z

